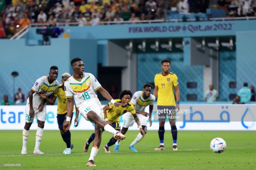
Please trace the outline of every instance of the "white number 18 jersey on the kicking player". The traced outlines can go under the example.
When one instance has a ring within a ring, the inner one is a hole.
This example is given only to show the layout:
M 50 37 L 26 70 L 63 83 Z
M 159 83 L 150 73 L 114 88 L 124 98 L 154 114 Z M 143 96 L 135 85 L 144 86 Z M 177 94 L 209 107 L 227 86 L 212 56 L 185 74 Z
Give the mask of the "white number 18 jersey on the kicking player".
M 99 99 L 95 92 L 100 88 L 100 83 L 91 73 L 84 73 L 81 81 L 71 76 L 64 83 L 66 97 L 74 97 L 77 108 L 81 107 L 82 104 L 98 101 Z

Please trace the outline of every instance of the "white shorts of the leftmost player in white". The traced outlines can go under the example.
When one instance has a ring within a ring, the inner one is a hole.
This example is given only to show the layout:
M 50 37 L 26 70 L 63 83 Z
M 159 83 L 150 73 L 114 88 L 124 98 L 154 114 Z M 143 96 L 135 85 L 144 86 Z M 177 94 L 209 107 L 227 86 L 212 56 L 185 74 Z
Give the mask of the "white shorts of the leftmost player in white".
M 34 108 L 35 115 L 33 118 L 30 117 L 29 110 L 30 110 L 29 103 L 27 103 L 26 105 L 26 122 L 27 123 L 32 123 L 35 118 L 40 121 L 46 121 L 46 104 L 44 105 L 42 112 L 39 112 L 38 108 Z

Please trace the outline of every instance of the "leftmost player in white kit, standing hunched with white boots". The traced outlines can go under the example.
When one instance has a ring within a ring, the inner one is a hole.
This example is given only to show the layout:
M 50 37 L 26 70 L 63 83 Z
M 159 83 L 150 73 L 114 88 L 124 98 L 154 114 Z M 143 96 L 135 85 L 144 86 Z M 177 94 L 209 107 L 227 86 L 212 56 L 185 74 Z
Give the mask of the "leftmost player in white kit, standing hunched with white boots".
M 21 154 L 27 154 L 27 139 L 29 138 L 29 128 L 34 120 L 37 119 L 38 127 L 36 133 L 36 146 L 34 149 L 34 155 L 44 155 L 39 150 L 39 146 L 44 131 L 44 122 L 46 120 L 46 101 L 40 97 L 41 93 L 45 93 L 46 96 L 50 96 L 55 93 L 59 87 L 59 82 L 56 80 L 58 77 L 58 67 L 51 66 L 49 76 L 43 76 L 38 78 L 34 86 L 29 92 L 29 98 L 26 105 L 26 124 L 24 126 L 22 137 L 23 146 Z

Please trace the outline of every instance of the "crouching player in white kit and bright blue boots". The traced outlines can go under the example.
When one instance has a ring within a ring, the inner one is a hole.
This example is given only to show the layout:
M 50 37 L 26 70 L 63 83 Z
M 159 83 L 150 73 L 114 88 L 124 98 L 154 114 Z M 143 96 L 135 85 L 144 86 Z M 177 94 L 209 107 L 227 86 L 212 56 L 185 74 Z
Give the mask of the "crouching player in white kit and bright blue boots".
M 138 91 L 133 94 L 133 98 L 131 99 L 130 103 L 132 103 L 134 105 L 134 109 L 136 109 L 136 113 L 140 119 L 142 129 L 144 130 L 144 132 L 146 134 L 146 130 L 147 130 L 146 119 L 147 119 L 147 116 L 149 116 L 149 118 L 148 118 L 149 126 L 151 126 L 152 125 L 151 114 L 153 111 L 153 105 L 154 105 L 156 98 L 153 94 L 151 94 L 151 89 L 153 88 L 153 86 L 151 84 L 144 84 L 143 88 L 144 88 L 143 91 Z M 149 113 L 145 112 L 145 108 L 148 105 L 149 105 Z M 126 113 L 124 115 L 123 119 L 124 119 L 124 121 L 123 121 L 123 128 L 121 130 L 121 133 L 126 134 L 128 128 L 133 126 L 133 123 L 135 120 L 134 120 L 134 117 L 131 115 L 131 113 Z M 134 139 L 134 141 L 130 144 L 129 148 L 133 152 L 137 152 L 134 145 L 136 143 L 140 142 L 140 140 L 142 140 L 143 137 L 144 136 L 141 135 L 141 133 L 139 133 L 137 135 L 137 137 Z M 120 140 L 118 140 L 115 144 L 115 149 L 114 149 L 115 152 L 119 151 L 119 146 L 120 146 Z

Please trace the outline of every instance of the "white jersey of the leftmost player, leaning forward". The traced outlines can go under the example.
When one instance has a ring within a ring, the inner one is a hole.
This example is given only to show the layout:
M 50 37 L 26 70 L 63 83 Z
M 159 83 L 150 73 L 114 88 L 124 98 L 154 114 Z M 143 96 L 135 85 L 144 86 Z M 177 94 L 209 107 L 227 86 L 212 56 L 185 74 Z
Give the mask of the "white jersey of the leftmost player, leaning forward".
M 50 84 L 48 81 L 48 76 L 38 78 L 31 88 L 34 92 L 36 92 L 33 94 L 33 107 L 38 108 L 39 104 L 44 100 L 44 98 L 40 97 L 38 93 L 45 93 L 48 97 L 52 93 L 55 93 L 58 88 L 59 82 L 57 80 Z M 27 103 L 29 103 L 29 98 L 27 98 Z

